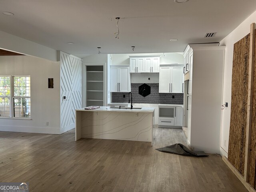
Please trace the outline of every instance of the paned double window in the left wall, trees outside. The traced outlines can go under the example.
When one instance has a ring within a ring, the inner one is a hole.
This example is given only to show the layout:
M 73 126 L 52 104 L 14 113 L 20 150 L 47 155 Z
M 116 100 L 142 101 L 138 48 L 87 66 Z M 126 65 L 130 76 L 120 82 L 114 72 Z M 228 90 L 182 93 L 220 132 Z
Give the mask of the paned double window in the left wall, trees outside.
M 0 117 L 30 115 L 30 76 L 0 76 Z

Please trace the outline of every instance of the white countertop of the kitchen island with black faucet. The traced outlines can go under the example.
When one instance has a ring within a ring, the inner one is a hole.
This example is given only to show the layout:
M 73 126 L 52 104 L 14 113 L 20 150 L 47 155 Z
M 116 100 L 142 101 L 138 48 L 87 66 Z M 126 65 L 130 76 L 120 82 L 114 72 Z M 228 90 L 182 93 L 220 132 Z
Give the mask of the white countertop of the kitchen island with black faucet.
M 155 108 L 142 107 L 142 109 L 116 109 L 108 106 L 100 106 L 98 109 L 85 110 L 84 108 L 76 109 L 76 111 L 102 111 L 102 112 L 136 112 L 136 113 L 152 113 Z

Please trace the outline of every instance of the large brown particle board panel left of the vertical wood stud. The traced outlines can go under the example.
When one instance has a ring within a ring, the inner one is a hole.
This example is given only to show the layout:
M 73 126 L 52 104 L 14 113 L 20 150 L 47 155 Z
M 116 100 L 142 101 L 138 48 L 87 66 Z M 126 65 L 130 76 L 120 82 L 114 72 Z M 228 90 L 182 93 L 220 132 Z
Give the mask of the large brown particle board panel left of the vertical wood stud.
M 228 160 L 244 176 L 250 34 L 234 44 Z

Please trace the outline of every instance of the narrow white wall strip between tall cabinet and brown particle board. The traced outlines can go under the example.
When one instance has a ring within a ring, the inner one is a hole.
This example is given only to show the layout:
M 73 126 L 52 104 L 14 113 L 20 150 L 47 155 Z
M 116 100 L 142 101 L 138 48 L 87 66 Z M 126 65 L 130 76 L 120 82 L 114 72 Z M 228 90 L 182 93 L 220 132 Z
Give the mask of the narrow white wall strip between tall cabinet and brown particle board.
M 233 47 L 234 43 L 242 39 L 250 33 L 250 24 L 256 22 L 256 12 L 250 15 L 242 22 L 233 32 L 226 36 L 220 46 L 226 46 L 225 63 L 224 63 L 224 79 L 223 79 L 223 96 L 222 103 L 228 102 L 228 108 L 222 110 L 221 123 L 221 154 L 227 157 L 228 154 L 228 138 L 230 128 L 230 106 L 231 106 L 231 84 L 232 84 L 232 64 L 233 64 Z

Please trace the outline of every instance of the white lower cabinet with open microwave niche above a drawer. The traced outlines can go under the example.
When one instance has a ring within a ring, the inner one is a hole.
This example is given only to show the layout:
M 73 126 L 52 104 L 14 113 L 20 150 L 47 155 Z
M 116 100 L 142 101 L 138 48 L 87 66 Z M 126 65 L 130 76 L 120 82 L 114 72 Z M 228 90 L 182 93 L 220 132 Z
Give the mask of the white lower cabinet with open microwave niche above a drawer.
M 182 106 L 159 104 L 158 113 L 158 127 L 182 126 Z

